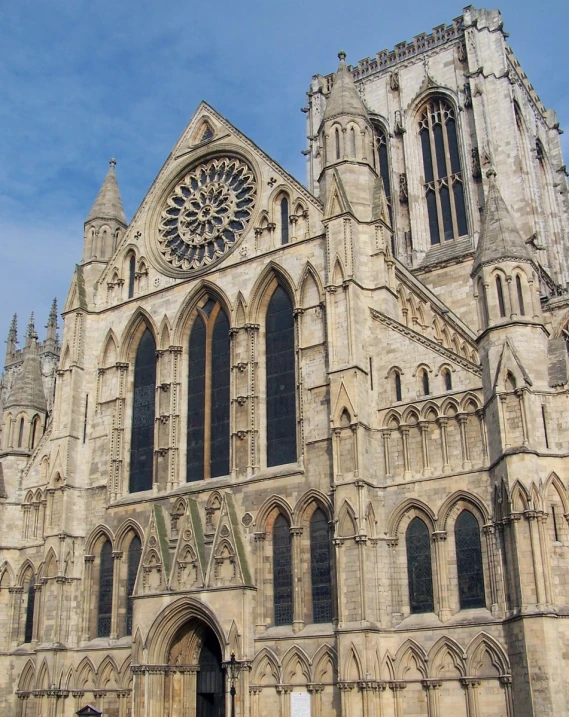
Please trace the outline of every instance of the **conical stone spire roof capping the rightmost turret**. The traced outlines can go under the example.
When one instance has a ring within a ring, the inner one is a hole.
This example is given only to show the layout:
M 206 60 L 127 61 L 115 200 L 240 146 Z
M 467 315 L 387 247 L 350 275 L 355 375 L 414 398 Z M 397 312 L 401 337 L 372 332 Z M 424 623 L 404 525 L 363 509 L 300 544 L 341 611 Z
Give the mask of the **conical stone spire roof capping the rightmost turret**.
M 494 264 L 501 259 L 532 261 L 522 235 L 500 194 L 495 170 L 489 169 L 486 176 L 490 182 L 482 215 L 482 229 L 474 254 L 473 274 L 484 264 Z

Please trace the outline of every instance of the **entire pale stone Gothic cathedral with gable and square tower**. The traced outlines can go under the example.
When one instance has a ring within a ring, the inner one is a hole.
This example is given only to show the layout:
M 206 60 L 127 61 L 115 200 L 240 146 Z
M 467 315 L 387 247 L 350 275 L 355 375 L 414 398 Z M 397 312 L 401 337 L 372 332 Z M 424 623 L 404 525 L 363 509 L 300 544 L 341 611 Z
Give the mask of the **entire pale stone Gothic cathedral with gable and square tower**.
M 506 38 L 340 53 L 307 187 L 205 103 L 129 223 L 111 160 L 8 337 L 2 714 L 569 714 L 567 172 Z

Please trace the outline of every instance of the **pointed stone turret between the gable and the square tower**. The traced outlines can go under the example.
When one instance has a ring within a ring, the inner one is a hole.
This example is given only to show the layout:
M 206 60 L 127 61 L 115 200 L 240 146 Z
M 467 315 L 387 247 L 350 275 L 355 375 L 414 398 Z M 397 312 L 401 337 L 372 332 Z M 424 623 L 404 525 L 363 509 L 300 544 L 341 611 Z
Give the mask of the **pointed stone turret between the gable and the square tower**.
M 340 64 L 320 125 L 324 159 L 319 177 L 326 215 L 349 212 L 362 221 L 373 218 L 373 193 L 377 172 L 373 167 L 373 127 L 354 78 Z

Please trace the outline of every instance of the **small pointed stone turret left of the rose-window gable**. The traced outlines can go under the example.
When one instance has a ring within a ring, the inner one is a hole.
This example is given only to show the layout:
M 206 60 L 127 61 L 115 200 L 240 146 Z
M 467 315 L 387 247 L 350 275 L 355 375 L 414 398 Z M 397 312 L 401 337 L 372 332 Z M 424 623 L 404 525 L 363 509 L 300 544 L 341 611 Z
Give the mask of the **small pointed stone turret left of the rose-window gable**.
M 85 220 L 83 264 L 107 262 L 127 226 L 115 174 L 116 163 L 115 159 L 110 160 L 105 181 Z

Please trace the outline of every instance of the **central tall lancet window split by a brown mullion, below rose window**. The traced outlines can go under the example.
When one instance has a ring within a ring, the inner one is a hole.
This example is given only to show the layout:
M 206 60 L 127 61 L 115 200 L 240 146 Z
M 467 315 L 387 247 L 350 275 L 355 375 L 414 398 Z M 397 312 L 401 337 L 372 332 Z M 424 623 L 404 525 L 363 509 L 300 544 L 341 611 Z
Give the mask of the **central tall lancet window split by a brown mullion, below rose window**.
M 229 322 L 213 299 L 190 332 L 186 480 L 229 473 Z

